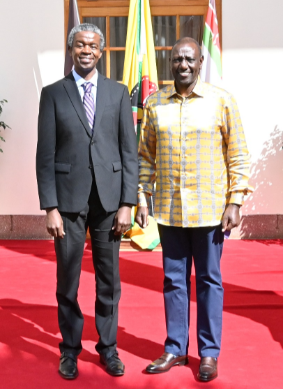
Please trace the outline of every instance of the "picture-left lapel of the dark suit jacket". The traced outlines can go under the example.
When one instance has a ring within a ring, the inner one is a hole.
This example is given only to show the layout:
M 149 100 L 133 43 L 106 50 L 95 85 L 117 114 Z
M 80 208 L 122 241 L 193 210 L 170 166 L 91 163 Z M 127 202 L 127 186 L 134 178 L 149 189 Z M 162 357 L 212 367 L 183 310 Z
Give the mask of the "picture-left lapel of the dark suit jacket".
M 91 128 L 89 126 L 88 119 L 86 117 L 86 111 L 84 110 L 84 105 L 82 104 L 82 98 L 79 95 L 79 91 L 77 89 L 77 84 L 75 82 L 75 78 L 72 73 L 68 74 L 66 78 L 63 79 L 63 87 L 66 89 L 68 97 L 77 112 L 77 115 L 82 122 L 84 128 L 87 133 L 91 136 Z

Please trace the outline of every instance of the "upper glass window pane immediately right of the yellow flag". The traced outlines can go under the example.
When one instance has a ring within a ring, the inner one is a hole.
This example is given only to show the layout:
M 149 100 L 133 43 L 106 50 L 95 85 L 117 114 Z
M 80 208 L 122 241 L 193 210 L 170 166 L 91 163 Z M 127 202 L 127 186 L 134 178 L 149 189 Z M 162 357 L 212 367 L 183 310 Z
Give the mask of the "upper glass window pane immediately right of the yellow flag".
M 155 46 L 173 46 L 176 42 L 176 16 L 153 16 Z

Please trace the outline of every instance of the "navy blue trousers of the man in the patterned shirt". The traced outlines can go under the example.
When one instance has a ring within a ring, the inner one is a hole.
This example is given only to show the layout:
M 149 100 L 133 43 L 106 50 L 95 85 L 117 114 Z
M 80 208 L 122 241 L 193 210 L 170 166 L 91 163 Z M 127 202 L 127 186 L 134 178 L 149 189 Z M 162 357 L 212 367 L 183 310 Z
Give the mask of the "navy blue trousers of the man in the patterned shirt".
M 162 245 L 165 318 L 165 351 L 187 355 L 189 346 L 192 260 L 196 274 L 197 344 L 201 357 L 220 353 L 223 288 L 220 258 L 222 225 L 182 228 L 158 224 Z

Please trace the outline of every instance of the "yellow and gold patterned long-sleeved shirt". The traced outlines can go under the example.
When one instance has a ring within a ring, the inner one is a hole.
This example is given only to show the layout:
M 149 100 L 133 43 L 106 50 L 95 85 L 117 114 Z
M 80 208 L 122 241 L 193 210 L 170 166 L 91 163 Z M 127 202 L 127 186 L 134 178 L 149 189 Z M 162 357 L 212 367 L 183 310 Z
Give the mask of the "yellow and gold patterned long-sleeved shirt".
M 178 227 L 217 226 L 243 204 L 250 155 L 234 97 L 198 78 L 182 97 L 170 85 L 148 97 L 139 141 L 138 207 L 156 181 L 154 218 Z

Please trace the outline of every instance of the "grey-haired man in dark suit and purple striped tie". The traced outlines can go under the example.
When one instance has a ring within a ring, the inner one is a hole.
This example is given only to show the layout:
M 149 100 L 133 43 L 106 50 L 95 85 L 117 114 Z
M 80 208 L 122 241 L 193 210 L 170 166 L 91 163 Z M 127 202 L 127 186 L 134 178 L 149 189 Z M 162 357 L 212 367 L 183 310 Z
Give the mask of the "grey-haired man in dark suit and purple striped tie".
M 65 379 L 77 377 L 82 351 L 84 318 L 77 290 L 87 228 L 96 282 L 95 348 L 109 374 L 125 372 L 116 351 L 118 255 L 137 203 L 137 141 L 128 89 L 96 70 L 104 43 L 93 24 L 72 29 L 68 46 L 74 69 L 43 88 L 40 98 L 36 171 L 40 209 L 46 210 L 56 251 L 63 337 L 59 374 Z

